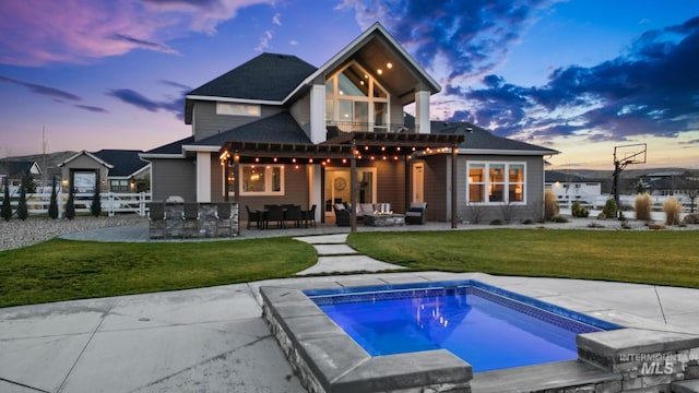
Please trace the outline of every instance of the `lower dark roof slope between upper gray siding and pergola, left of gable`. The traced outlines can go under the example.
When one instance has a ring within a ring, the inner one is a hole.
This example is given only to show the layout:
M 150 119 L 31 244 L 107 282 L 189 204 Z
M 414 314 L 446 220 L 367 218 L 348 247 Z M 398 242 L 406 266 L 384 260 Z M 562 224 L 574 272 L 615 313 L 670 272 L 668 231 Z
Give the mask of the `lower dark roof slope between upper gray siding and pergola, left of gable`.
M 222 146 L 227 141 L 311 143 L 308 135 L 289 112 L 280 112 L 188 144 L 194 146 Z

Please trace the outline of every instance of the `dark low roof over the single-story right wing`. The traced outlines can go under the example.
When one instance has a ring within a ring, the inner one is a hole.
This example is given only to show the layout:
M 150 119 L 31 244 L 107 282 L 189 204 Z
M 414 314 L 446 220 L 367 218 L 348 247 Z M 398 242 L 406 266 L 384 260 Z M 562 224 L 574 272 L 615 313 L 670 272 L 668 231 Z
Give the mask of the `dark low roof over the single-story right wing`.
M 536 154 L 552 155 L 560 152 L 493 134 L 469 122 L 431 121 L 431 133 L 461 133 L 466 136 L 459 150 L 471 154 Z

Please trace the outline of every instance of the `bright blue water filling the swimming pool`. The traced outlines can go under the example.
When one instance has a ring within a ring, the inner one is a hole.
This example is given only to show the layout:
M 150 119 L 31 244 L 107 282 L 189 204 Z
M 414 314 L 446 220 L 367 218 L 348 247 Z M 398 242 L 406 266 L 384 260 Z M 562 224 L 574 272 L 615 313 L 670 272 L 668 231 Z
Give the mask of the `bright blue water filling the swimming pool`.
M 576 359 L 603 330 L 474 286 L 309 297 L 372 356 L 445 348 L 474 372 Z

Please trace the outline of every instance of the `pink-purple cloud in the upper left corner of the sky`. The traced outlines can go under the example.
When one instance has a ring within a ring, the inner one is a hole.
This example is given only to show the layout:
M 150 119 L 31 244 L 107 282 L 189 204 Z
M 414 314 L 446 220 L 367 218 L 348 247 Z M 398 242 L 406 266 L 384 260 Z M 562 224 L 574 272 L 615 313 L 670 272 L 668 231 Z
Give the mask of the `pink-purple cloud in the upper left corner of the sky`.
M 88 63 L 133 49 L 177 55 L 169 39 L 215 33 L 241 8 L 273 0 L 8 1 L 0 5 L 0 62 Z

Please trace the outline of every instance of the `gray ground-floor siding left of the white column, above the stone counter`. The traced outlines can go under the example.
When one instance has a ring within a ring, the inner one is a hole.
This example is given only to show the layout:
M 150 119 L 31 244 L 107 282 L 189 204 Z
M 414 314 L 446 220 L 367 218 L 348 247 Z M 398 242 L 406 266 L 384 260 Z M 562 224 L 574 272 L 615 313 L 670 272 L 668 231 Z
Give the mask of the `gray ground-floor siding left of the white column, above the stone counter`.
M 153 201 L 179 195 L 187 202 L 197 201 L 197 166 L 191 159 L 152 159 Z

